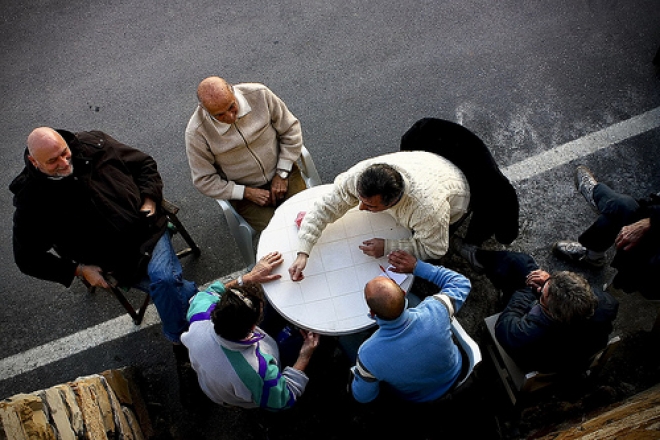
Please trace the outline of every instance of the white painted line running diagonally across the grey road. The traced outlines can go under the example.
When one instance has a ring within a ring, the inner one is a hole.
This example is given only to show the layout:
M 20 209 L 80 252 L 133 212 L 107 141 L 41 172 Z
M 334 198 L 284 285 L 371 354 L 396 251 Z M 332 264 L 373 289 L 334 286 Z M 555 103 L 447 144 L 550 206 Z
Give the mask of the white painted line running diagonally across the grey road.
M 657 127 L 660 127 L 660 107 L 522 160 L 502 171 L 511 181 L 528 179 Z M 231 280 L 241 273 L 237 272 L 223 278 Z M 158 313 L 152 304 L 147 308 L 142 325 L 139 327 L 133 324 L 128 315 L 123 315 L 23 353 L 9 356 L 0 360 L 0 381 L 159 323 Z

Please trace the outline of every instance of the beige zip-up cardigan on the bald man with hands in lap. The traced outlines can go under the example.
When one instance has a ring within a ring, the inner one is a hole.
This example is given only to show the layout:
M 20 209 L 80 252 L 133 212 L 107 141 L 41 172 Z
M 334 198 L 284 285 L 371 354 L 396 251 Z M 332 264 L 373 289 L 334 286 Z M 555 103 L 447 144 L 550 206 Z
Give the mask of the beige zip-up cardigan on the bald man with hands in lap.
M 214 199 L 240 200 L 245 186 L 270 182 L 300 157 L 300 122 L 263 84 L 234 86 L 238 119 L 224 124 L 197 106 L 186 127 L 186 154 L 195 188 Z

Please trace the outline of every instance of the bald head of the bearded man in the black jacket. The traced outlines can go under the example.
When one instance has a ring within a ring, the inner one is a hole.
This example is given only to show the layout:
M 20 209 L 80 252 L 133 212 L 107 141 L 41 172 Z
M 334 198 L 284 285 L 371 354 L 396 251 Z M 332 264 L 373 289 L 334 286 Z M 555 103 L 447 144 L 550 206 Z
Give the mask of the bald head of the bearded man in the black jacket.
M 28 159 L 42 173 L 66 177 L 73 173 L 71 150 L 58 132 L 50 127 L 32 130 L 27 139 Z

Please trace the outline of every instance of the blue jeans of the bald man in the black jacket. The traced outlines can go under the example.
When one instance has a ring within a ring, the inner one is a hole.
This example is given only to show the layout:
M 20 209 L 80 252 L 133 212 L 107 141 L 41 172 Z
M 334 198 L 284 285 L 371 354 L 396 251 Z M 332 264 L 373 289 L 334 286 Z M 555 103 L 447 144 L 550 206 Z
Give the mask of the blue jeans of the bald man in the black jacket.
M 163 323 L 163 333 L 167 339 L 178 343 L 181 334 L 188 329 L 188 301 L 197 293 L 197 285 L 183 279 L 181 263 L 168 232 L 154 247 L 147 275 L 149 295 Z

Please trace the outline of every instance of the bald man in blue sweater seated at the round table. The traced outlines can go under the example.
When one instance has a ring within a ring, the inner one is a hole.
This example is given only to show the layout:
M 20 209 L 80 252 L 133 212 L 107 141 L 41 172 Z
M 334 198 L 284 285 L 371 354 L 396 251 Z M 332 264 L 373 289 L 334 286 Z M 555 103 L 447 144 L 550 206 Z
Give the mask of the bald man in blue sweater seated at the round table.
M 452 339 L 450 323 L 470 292 L 470 281 L 404 251 L 392 252 L 388 259 L 396 271 L 428 280 L 440 291 L 416 307 L 406 308 L 406 294 L 394 281 L 377 277 L 367 283 L 364 296 L 378 329 L 358 350 L 351 370 L 353 397 L 370 402 L 378 397 L 381 385 L 386 385 L 403 400 L 436 400 L 453 387 L 461 373 L 461 353 Z

